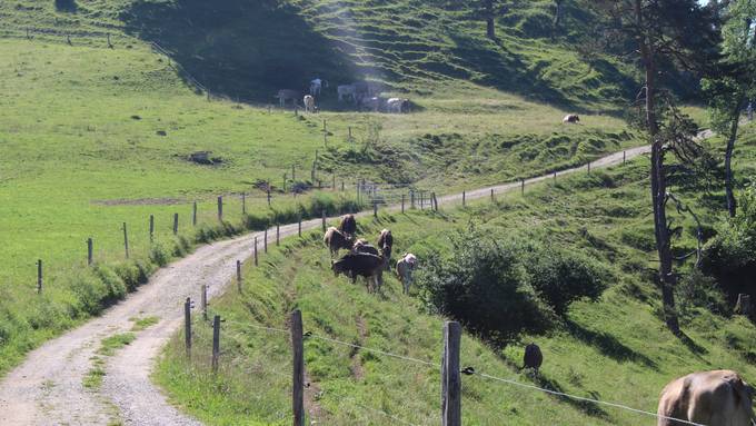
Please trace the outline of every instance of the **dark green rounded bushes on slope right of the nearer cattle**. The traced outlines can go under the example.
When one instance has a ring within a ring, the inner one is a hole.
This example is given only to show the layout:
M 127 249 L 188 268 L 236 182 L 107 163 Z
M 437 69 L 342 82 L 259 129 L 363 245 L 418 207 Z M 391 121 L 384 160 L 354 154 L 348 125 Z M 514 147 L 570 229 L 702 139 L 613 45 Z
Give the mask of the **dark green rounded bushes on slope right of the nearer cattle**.
M 574 250 L 475 230 L 451 239 L 450 254 L 424 260 L 420 298 L 490 340 L 544 331 L 573 301 L 596 300 L 606 288 L 609 273 Z

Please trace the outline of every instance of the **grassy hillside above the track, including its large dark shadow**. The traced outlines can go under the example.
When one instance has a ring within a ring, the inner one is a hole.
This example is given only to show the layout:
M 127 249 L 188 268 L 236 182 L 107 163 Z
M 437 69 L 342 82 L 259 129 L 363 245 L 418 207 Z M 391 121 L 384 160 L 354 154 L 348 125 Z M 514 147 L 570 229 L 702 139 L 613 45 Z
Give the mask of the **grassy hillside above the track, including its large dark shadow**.
M 481 38 L 478 23 L 454 23 L 459 10 L 439 3 L 429 4 L 426 13 L 418 4 L 376 2 L 370 4 L 376 13 L 368 13 L 356 2 L 325 1 L 0 3 L 0 229 L 6 236 L 0 247 L 0 373 L 40 341 L 120 299 L 195 244 L 259 228 L 276 217 L 292 220 L 296 210 L 317 215 L 322 206 L 335 211 L 354 202 L 351 190 L 307 191 L 296 199 L 288 192 L 292 184 L 316 185 L 310 176 L 316 151 L 316 180 L 328 182 L 336 175 L 347 188 L 366 178 L 448 192 L 581 164 L 640 143 L 613 116 L 588 113 L 584 126 L 560 125 L 568 112 L 565 105 L 611 107 L 609 97 L 593 89 L 586 91 L 593 98 L 576 97 L 579 85 L 568 80 L 593 76 L 616 91 L 611 78 L 605 81 L 574 62 L 568 39 L 554 43 L 513 27 L 511 34 L 503 36 L 508 39 L 501 50 Z M 389 19 L 395 12 L 401 12 L 401 22 Z M 328 29 L 346 14 L 355 17 L 349 37 L 375 39 L 388 59 L 360 62 L 358 52 L 344 49 L 347 36 Z M 415 31 L 417 22 L 405 19 L 427 23 Z M 500 24 L 507 22 L 503 18 Z M 455 48 L 464 44 L 455 41 L 458 37 L 476 48 Z M 150 41 L 168 48 L 170 58 L 150 49 Z M 431 59 L 412 53 L 422 43 Z M 513 49 L 524 49 L 517 60 L 525 68 L 508 53 Z M 509 56 L 514 62 L 505 58 Z M 540 57 L 539 70 L 554 63 L 577 73 L 541 81 L 543 72 L 528 68 Z M 427 63 L 495 66 L 457 75 Z M 415 113 L 295 117 L 265 108 L 285 82 L 301 85 L 320 71 L 339 82 L 381 67 L 386 75 L 370 75 L 385 79 L 396 93 L 411 93 Z M 520 76 L 509 86 L 493 80 L 509 78 L 515 68 L 530 77 Z M 210 87 L 211 101 L 187 82 L 189 75 Z M 573 91 L 560 91 L 551 105 L 534 101 L 551 99 L 538 88 L 557 87 L 557 80 Z M 187 161 L 191 152 L 205 150 L 219 162 Z M 272 208 L 259 189 L 262 181 L 273 185 Z M 247 216 L 241 215 L 241 191 L 248 194 Z M 219 195 L 225 196 L 225 224 L 216 219 Z M 195 200 L 197 229 L 190 226 Z M 179 214 L 178 236 L 172 235 L 173 214 Z M 150 215 L 156 218 L 155 242 L 148 237 Z M 83 267 L 89 237 L 94 240 L 93 268 Z M 42 296 L 34 295 L 37 259 L 44 265 Z

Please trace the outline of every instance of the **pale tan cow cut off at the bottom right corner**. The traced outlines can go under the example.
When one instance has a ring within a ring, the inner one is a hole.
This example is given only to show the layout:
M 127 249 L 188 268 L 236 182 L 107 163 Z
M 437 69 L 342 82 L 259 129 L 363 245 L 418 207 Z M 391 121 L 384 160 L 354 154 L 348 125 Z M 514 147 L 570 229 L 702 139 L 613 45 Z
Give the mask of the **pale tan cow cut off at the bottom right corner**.
M 706 426 L 750 426 L 754 388 L 733 370 L 693 373 L 662 390 L 657 414 Z M 658 426 L 678 425 L 659 418 Z

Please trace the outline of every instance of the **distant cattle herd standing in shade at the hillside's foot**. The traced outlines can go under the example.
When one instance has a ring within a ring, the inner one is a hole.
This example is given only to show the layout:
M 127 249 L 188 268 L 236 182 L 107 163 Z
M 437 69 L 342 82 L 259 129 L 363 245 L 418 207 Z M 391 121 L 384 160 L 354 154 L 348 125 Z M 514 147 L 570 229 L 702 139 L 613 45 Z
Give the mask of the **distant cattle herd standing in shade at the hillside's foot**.
M 316 100 L 320 97 L 322 90 L 328 87 L 328 81 L 316 78 L 310 81 L 309 92 L 304 97 L 300 90 L 281 89 L 276 95 L 276 98 L 281 108 L 285 108 L 289 102 L 291 102 L 294 107 L 297 107 L 299 99 L 301 99 L 307 112 L 317 112 L 318 107 L 316 106 Z M 338 96 L 339 102 L 350 102 L 364 111 L 389 113 L 409 112 L 409 99 L 381 97 L 381 90 L 382 87 L 377 82 L 356 81 L 350 85 L 337 86 L 336 95 Z

